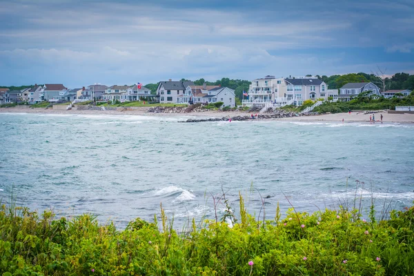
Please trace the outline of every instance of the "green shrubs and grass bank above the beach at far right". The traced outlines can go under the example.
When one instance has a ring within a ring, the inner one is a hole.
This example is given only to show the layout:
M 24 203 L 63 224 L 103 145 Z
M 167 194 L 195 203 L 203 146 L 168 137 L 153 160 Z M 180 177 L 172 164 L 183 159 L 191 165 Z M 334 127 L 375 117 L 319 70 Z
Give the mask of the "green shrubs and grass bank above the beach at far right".
M 369 92 L 369 91 L 368 91 Z M 407 97 L 393 97 L 386 99 L 380 97 L 375 99 L 374 97 L 368 97 L 368 92 L 359 94 L 355 99 L 351 101 L 337 101 L 335 103 L 326 102 L 321 106 L 317 106 L 313 111 L 326 113 L 339 113 L 348 112 L 348 110 L 382 110 L 391 109 L 395 110 L 395 106 L 414 106 L 414 92 L 411 92 Z

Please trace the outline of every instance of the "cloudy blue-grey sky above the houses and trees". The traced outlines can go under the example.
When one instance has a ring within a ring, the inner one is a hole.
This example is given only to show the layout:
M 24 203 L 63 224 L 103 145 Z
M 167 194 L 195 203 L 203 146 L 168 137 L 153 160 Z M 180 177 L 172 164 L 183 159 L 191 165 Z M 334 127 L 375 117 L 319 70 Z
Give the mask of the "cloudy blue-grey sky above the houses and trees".
M 0 0 L 0 86 L 414 74 L 413 14 L 413 0 Z

